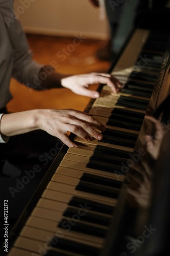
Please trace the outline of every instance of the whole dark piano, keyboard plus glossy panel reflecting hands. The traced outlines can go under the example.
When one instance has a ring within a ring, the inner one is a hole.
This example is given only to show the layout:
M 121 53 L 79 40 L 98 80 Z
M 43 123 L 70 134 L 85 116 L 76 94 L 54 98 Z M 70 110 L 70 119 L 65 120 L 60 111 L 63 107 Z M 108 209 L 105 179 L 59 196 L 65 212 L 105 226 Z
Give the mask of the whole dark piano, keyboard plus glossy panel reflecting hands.
M 8 256 L 164 255 L 169 226 L 169 32 L 135 28 L 86 112 L 102 141 L 70 135 L 8 238 Z

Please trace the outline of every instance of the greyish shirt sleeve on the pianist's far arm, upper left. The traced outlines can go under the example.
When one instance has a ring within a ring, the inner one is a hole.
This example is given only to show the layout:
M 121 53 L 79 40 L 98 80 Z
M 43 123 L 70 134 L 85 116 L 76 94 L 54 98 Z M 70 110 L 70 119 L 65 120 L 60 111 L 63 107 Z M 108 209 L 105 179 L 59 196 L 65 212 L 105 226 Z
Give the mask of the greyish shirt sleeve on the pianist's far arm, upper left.
M 12 76 L 30 87 L 38 80 L 39 71 L 43 67 L 32 58 L 28 40 L 22 26 L 15 16 L 12 0 L 0 0 L 2 16 L 6 23 L 8 35 L 13 48 Z M 38 84 L 36 84 L 37 86 Z M 37 88 L 36 88 L 37 89 Z

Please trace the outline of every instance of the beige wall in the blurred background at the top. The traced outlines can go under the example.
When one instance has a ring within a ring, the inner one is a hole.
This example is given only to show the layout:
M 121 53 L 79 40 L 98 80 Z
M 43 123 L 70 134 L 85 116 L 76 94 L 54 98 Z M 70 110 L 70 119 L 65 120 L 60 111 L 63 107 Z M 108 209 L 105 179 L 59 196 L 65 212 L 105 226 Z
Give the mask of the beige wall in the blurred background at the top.
M 15 14 L 26 32 L 107 39 L 107 18 L 89 0 L 15 0 Z

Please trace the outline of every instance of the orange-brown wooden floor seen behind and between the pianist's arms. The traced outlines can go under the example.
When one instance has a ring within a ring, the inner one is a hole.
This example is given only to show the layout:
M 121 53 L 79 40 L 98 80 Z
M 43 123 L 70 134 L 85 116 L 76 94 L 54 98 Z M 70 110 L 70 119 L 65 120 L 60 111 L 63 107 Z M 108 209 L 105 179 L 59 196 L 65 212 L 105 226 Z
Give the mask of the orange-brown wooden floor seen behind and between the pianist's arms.
M 81 39 L 80 45 L 74 46 L 74 38 L 30 34 L 27 37 L 33 51 L 33 58 L 44 65 L 57 61 L 57 72 L 64 74 L 106 73 L 110 67 L 109 61 L 100 61 L 95 57 L 96 50 L 101 48 L 105 41 L 84 38 Z M 62 57 L 61 54 L 63 54 Z M 90 88 L 98 88 L 98 86 L 94 85 Z M 11 80 L 10 90 L 13 95 L 13 99 L 8 103 L 10 112 L 44 108 L 83 111 L 90 101 L 90 98 L 76 95 L 64 88 L 35 91 L 14 79 Z

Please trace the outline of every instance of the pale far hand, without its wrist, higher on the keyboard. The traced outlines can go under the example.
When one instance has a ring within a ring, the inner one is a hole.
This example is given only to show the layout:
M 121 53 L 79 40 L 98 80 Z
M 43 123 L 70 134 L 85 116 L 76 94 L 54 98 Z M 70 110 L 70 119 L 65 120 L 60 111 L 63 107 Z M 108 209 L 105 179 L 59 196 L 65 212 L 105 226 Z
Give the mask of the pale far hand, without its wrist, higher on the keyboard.
M 115 77 L 104 73 L 73 75 L 61 79 L 61 85 L 63 87 L 70 89 L 76 94 L 94 99 L 98 98 L 100 95 L 96 91 L 88 90 L 88 87 L 90 84 L 96 83 L 107 84 L 112 89 L 113 93 L 119 92 L 122 88 L 122 83 L 120 83 Z

